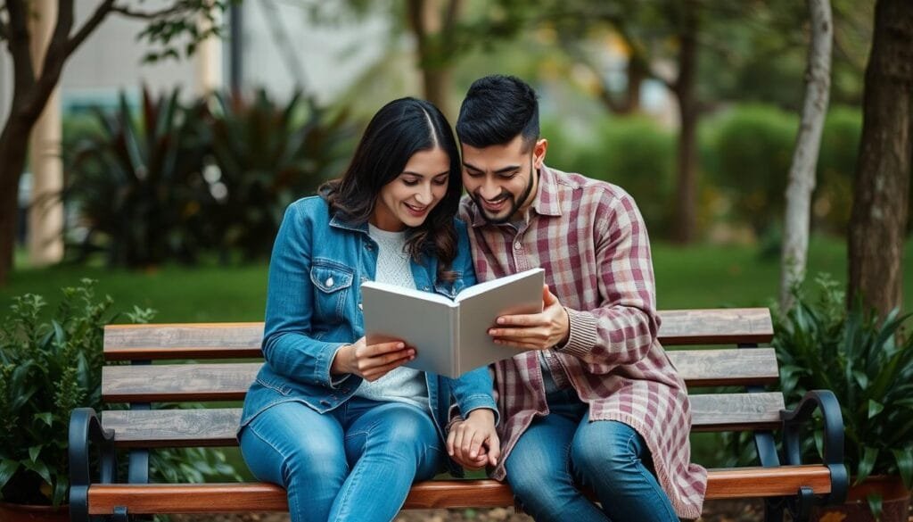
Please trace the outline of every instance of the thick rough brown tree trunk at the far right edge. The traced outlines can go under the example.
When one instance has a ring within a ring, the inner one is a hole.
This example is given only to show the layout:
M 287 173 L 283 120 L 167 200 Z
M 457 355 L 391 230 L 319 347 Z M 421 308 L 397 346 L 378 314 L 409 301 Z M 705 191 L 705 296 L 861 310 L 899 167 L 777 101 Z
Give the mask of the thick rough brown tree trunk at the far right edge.
M 878 0 L 866 66 L 863 129 L 850 218 L 849 289 L 853 303 L 882 317 L 902 301 L 913 142 L 913 3 Z

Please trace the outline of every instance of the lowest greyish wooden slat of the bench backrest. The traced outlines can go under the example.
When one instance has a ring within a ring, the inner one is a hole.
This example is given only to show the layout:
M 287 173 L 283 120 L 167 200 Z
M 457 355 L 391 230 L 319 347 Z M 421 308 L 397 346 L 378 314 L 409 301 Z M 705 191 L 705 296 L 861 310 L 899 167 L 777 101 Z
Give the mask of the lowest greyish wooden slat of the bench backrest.
M 730 393 L 691 397 L 692 431 L 776 429 L 782 394 Z M 105 428 L 121 447 L 234 446 L 241 410 L 106 410 Z

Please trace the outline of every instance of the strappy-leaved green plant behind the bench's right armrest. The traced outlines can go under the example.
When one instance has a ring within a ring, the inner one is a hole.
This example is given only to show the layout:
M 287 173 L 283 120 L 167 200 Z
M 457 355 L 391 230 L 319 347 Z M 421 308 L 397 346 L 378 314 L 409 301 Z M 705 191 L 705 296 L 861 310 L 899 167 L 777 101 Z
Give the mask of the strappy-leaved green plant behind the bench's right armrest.
M 787 405 L 809 389 L 830 389 L 840 401 L 845 462 L 859 484 L 871 474 L 899 475 L 913 488 L 913 336 L 910 317 L 879 319 L 860 302 L 846 310 L 837 282 L 819 277 L 817 302 L 795 291 L 796 304 L 775 322 Z M 820 443 L 819 443 L 820 447 Z M 813 451 L 812 447 L 806 451 Z

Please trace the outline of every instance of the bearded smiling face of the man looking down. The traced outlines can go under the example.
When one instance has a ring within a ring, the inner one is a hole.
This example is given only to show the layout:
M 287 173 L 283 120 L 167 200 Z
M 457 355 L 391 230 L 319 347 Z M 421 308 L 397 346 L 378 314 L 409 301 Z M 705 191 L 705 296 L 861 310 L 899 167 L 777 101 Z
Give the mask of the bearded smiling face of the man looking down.
M 530 207 L 547 146 L 544 139 L 527 145 L 519 134 L 503 145 L 463 144 L 463 186 L 488 223 L 517 220 Z

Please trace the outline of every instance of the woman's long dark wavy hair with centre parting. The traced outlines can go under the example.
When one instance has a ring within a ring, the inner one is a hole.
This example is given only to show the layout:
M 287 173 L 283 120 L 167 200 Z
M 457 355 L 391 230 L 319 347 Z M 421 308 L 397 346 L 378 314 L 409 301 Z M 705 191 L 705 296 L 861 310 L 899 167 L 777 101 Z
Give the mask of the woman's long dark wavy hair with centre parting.
M 444 114 L 434 104 L 415 98 L 401 98 L 384 105 L 364 130 L 352 163 L 341 178 L 318 189 L 330 205 L 330 212 L 355 223 L 371 218 L 384 185 L 403 173 L 413 154 L 440 147 L 450 158 L 450 176 L 443 199 L 420 226 L 410 229 L 406 250 L 419 261 L 423 254 L 438 259 L 439 279 L 453 280 L 450 266 L 456 258 L 456 229 L 453 219 L 463 191 L 459 154 L 454 134 Z

